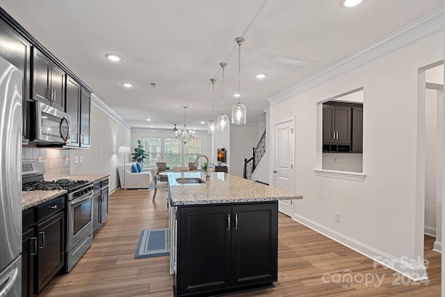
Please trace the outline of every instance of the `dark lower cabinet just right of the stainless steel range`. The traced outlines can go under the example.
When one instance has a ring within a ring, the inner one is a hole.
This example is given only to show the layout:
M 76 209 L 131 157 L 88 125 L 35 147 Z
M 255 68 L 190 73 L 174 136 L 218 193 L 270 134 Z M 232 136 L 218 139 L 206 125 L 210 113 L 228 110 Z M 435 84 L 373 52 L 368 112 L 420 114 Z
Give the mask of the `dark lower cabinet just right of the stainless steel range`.
M 95 193 L 92 196 L 92 232 L 95 232 L 108 217 L 108 177 L 93 184 Z

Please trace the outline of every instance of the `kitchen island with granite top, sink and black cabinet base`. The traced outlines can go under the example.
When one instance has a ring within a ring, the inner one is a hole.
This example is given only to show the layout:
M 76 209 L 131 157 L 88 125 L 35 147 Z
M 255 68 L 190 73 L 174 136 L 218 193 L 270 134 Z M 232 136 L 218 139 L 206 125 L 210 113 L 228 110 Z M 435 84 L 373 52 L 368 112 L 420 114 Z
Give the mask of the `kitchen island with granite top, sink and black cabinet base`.
M 277 281 L 277 200 L 302 199 L 248 179 L 168 172 L 175 296 L 214 296 Z

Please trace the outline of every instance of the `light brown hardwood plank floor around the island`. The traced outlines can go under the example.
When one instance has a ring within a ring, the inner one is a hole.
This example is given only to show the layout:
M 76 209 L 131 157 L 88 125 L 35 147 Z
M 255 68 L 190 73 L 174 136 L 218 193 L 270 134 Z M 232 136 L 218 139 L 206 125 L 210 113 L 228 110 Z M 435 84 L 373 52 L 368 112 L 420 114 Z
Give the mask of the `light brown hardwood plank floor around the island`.
M 133 259 L 141 230 L 168 227 L 167 192 L 158 191 L 154 204 L 152 193 L 127 190 L 110 195 L 109 216 L 92 247 L 70 273 L 57 275 L 39 296 L 173 296 L 168 256 Z M 440 296 L 441 255 L 431 250 L 430 236 L 425 236 L 427 283 L 400 278 L 380 265 L 373 268 L 371 259 L 282 214 L 278 237 L 275 288 L 232 296 Z M 352 282 L 346 282 L 348 273 Z

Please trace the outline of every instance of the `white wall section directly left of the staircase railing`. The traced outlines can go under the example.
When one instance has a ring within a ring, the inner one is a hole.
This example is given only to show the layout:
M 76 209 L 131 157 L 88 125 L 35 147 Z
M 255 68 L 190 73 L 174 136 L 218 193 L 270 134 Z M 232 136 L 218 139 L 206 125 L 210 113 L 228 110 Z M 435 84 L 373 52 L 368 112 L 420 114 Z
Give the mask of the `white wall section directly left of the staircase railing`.
M 258 130 L 259 127 L 256 126 L 232 125 L 230 129 L 231 175 L 243 177 L 243 160 L 250 159 L 252 156 L 252 148 L 259 141 Z

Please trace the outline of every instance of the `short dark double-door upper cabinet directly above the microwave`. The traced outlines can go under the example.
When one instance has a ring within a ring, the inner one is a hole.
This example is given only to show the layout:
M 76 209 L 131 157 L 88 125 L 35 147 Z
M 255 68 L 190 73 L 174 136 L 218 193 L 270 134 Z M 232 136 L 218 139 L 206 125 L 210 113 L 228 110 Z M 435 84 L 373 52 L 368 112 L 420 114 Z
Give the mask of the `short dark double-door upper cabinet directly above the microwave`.
M 32 99 L 65 111 L 66 72 L 35 47 L 32 65 Z

